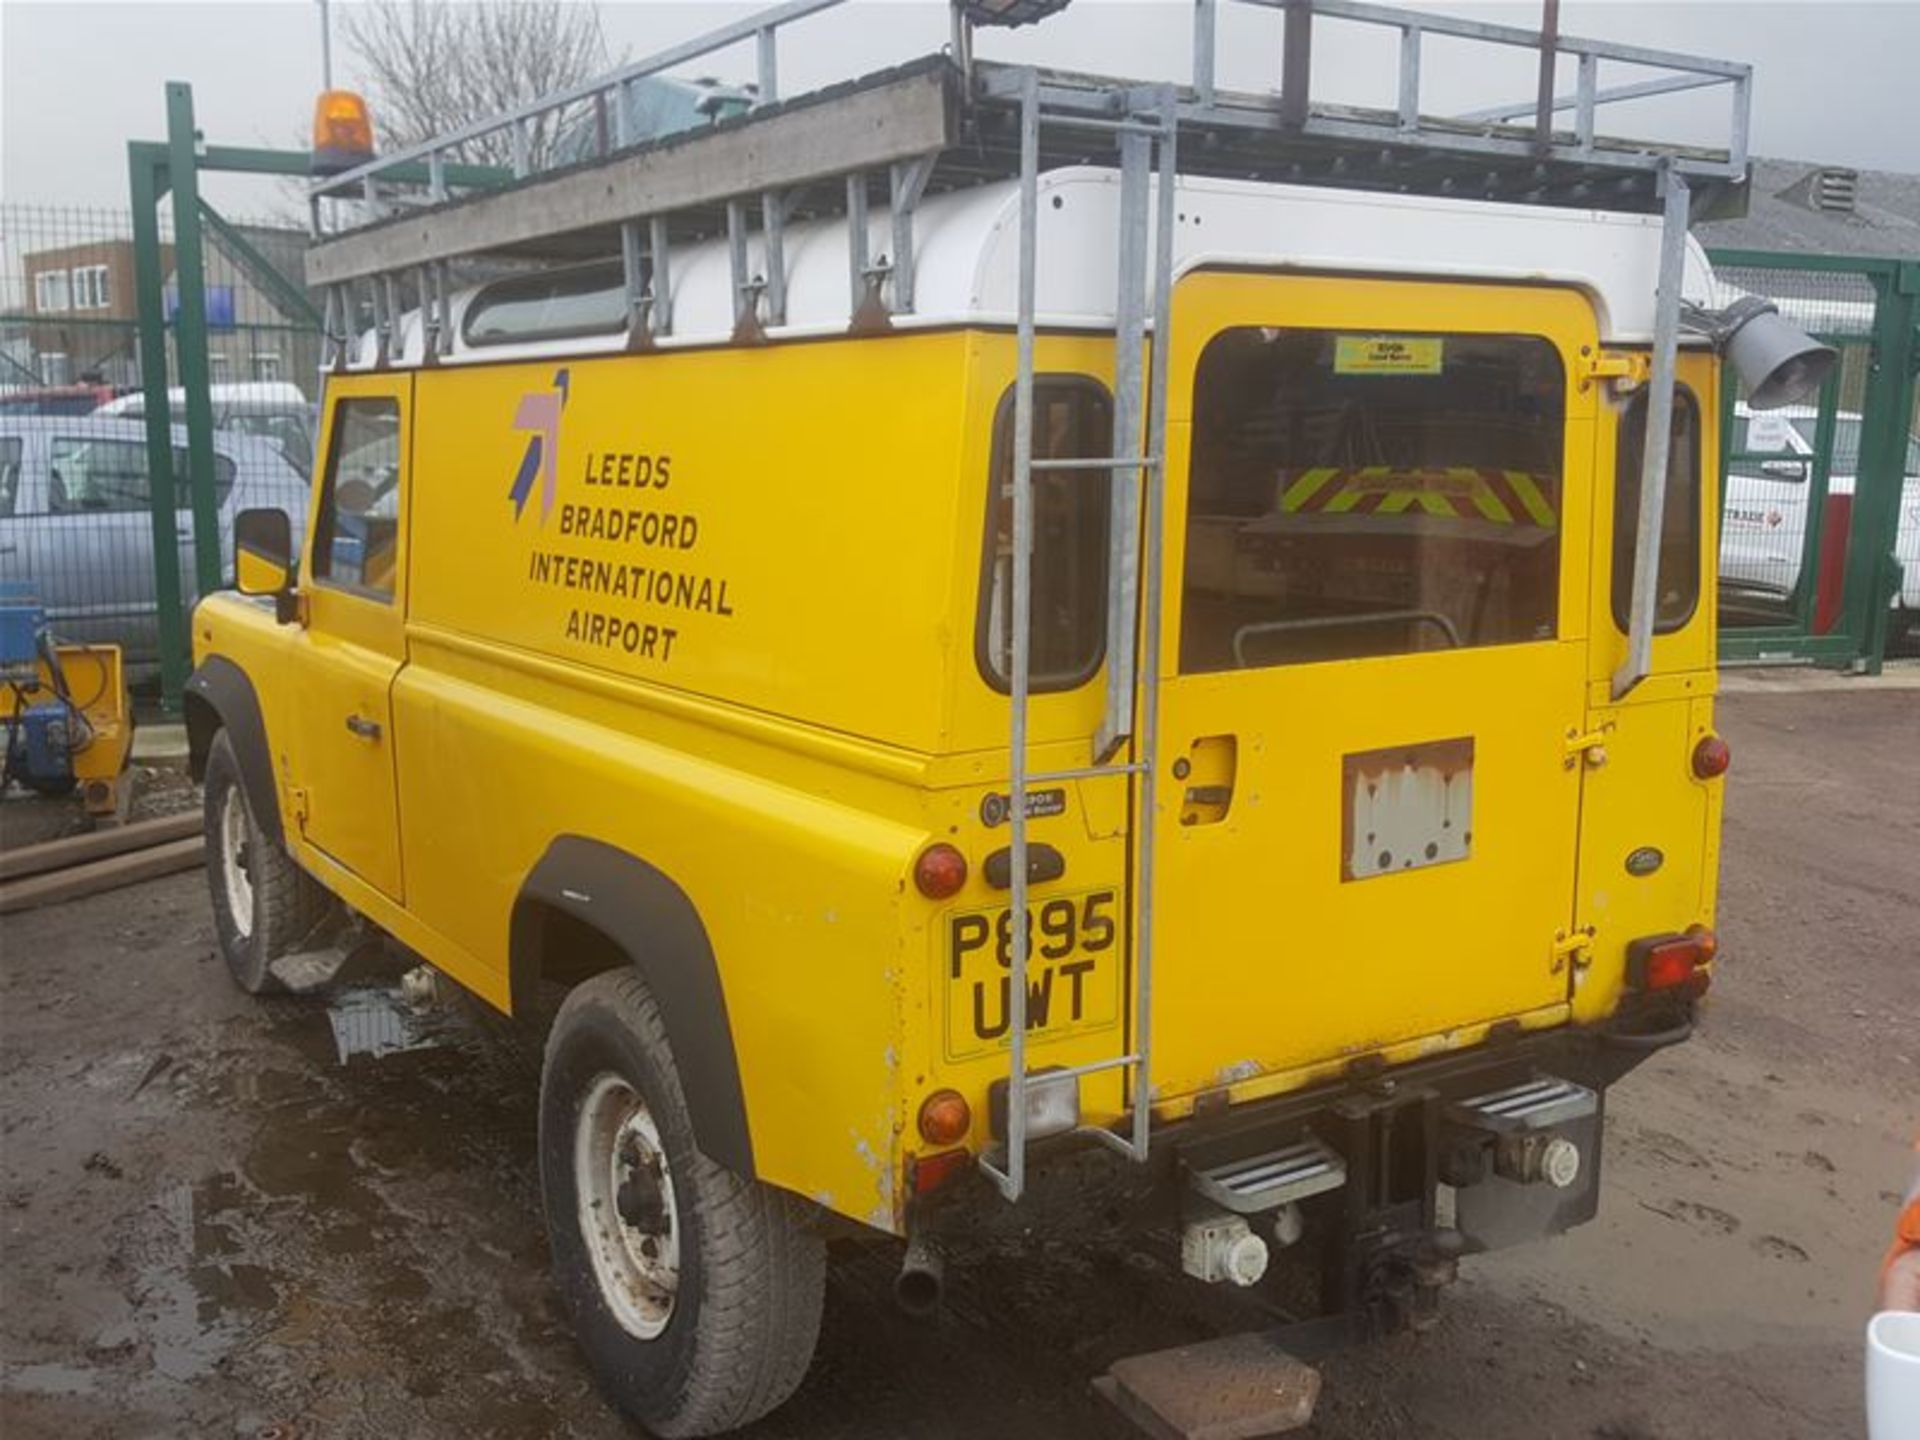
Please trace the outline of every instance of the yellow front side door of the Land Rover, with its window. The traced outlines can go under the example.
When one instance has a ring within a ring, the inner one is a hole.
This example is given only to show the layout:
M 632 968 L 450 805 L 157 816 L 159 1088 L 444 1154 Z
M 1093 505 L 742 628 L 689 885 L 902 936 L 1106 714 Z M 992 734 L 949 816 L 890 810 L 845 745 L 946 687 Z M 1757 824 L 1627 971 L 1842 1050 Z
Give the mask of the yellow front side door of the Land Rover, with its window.
M 409 374 L 334 376 L 305 561 L 301 835 L 399 900 L 392 689 L 403 660 Z

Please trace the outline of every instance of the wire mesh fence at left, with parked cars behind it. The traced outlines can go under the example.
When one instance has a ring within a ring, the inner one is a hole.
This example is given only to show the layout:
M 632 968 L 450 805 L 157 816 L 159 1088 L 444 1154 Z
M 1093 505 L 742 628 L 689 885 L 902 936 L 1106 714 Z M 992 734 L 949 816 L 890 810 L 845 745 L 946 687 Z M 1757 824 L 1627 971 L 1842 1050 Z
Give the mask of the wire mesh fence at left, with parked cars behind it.
M 180 346 L 179 246 L 161 217 L 157 265 L 180 601 L 196 536 Z M 205 351 L 219 574 L 250 505 L 303 518 L 321 344 L 301 230 L 207 215 Z M 173 376 L 173 382 L 169 382 Z M 33 591 L 60 639 L 115 643 L 129 672 L 159 664 L 156 507 L 131 215 L 0 205 L 0 582 Z M 165 528 L 165 526 L 161 526 Z

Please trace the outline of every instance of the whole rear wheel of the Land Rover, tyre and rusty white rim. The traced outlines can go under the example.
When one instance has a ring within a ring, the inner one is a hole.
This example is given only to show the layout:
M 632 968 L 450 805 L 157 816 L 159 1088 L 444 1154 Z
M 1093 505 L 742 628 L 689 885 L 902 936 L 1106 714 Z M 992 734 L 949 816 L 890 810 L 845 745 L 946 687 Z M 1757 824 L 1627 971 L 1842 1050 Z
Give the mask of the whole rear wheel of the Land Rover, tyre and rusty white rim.
M 561 1300 L 611 1400 L 649 1432 L 766 1415 L 820 1332 L 826 1244 L 795 1196 L 703 1156 L 637 973 L 576 987 L 547 1037 L 540 1181 Z

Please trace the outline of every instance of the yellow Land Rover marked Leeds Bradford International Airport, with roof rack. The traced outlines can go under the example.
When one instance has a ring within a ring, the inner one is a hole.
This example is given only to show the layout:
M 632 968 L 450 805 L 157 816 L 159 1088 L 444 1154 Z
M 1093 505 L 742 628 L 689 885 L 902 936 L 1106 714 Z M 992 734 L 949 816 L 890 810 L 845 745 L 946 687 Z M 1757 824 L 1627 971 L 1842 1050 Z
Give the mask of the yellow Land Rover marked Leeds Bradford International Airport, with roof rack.
M 634 134 L 641 61 L 501 117 L 595 117 L 566 165 L 319 182 L 309 534 L 240 516 L 194 616 L 234 979 L 351 914 L 551 1016 L 557 1284 L 659 1434 L 793 1390 L 839 1229 L 925 1308 L 1094 1183 L 1417 1323 L 1594 1215 L 1707 989 L 1720 367 L 1826 357 L 1688 240 L 1743 129 L 1609 142 L 1594 71 L 1745 67 L 1563 36 L 1576 98 L 1436 123 L 1421 35 L 1540 38 L 1342 4 L 1407 40 L 1367 111 L 1309 4 L 1277 94 L 1212 0 L 1181 86 L 975 60 L 987 4 L 778 100 L 818 8 L 703 42 L 758 36 L 737 119 Z

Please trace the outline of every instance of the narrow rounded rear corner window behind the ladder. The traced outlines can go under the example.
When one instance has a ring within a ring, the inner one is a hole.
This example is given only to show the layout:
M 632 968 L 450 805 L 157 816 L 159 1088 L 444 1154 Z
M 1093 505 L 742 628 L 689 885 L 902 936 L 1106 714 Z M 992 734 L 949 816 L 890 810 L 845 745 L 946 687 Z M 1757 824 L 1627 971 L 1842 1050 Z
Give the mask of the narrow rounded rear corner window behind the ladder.
M 1114 445 L 1114 405 L 1085 376 L 1033 380 L 1033 459 L 1096 459 Z M 1106 470 L 1033 472 L 1033 595 L 1029 678 L 1033 691 L 1073 689 L 1106 655 Z M 1014 655 L 1014 392 L 993 424 L 987 486 L 987 549 L 975 630 L 979 672 L 1010 689 Z

